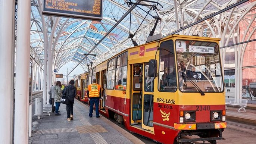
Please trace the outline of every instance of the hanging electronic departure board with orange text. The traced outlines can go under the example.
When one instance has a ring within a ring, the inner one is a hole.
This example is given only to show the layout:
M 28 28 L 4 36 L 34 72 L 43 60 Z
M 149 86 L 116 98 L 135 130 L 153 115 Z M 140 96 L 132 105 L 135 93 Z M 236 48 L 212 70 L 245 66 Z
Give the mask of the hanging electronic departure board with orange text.
M 43 15 L 102 20 L 102 0 L 44 0 Z

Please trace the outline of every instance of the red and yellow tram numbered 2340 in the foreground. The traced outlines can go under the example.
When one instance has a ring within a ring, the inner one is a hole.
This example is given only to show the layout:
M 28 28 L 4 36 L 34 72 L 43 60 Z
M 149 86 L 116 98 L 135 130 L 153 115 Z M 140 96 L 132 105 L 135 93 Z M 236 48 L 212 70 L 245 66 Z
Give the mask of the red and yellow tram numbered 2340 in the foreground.
M 223 139 L 220 39 L 153 37 L 89 70 L 89 84 L 102 85 L 100 113 L 160 143 Z

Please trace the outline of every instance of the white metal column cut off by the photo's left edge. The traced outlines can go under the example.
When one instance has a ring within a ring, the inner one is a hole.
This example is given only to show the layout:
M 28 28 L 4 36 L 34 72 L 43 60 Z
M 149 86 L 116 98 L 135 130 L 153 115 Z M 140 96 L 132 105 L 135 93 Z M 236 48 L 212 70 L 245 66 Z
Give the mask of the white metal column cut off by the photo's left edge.
M 12 143 L 14 4 L 14 0 L 4 0 L 0 3 L 0 109 L 5 117 L 0 122 L 1 144 Z

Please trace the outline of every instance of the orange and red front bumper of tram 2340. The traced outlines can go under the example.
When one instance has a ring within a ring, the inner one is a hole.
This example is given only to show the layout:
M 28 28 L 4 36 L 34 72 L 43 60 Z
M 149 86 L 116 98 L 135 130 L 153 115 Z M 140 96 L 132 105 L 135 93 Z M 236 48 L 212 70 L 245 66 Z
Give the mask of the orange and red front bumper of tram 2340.
M 174 129 L 177 129 L 177 130 L 221 129 L 221 128 L 227 128 L 227 122 L 174 123 Z

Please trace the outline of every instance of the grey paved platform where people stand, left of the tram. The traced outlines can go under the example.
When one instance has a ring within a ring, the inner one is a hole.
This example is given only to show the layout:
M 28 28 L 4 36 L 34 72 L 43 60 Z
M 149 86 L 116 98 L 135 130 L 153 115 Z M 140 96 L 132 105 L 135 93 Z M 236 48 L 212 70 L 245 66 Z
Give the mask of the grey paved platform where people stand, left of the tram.
M 51 108 L 50 108 L 51 109 Z M 33 114 L 35 105 L 32 106 Z M 74 103 L 74 120 L 67 121 L 66 105 L 60 104 L 60 116 L 32 117 L 29 144 L 144 144 L 125 129 L 100 115 L 89 118 L 89 107 L 78 100 Z

